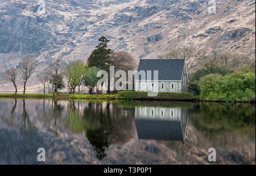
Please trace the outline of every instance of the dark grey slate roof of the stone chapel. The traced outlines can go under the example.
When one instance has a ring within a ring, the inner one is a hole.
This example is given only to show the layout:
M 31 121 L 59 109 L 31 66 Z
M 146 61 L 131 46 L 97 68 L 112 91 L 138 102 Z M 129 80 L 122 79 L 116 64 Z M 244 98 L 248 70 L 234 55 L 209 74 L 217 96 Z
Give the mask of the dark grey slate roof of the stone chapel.
M 141 59 L 139 61 L 138 72 L 151 70 L 151 79 L 154 79 L 154 70 L 158 70 L 158 80 L 181 80 L 184 59 Z M 136 76 L 136 80 L 141 80 L 141 76 Z

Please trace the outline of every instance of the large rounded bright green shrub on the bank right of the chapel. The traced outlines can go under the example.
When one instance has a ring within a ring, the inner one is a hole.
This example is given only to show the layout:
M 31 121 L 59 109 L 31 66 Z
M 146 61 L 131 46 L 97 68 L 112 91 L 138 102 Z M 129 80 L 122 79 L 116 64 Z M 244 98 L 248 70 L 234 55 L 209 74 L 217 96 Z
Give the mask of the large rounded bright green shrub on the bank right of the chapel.
M 200 79 L 199 86 L 204 100 L 255 101 L 255 73 L 209 74 Z

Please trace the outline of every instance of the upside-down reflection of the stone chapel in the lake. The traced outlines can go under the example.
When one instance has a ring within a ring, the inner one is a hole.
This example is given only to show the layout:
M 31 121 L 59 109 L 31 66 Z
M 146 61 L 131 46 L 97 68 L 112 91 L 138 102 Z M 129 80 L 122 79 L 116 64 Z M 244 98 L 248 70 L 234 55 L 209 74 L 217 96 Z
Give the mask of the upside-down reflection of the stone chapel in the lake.
M 135 107 L 139 139 L 184 141 L 187 123 L 187 108 Z

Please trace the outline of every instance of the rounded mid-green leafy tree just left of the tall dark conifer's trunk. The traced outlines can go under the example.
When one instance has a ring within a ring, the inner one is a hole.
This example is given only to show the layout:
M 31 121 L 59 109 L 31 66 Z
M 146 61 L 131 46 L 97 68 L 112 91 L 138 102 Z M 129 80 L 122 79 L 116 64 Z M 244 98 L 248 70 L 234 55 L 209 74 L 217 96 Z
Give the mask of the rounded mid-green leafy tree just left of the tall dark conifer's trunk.
M 90 94 L 92 93 L 94 87 L 97 86 L 98 79 L 100 79 L 97 77 L 97 73 L 100 70 L 101 69 L 97 68 L 96 66 L 92 66 L 88 68 L 84 74 L 84 78 L 83 78 L 84 85 L 88 87 Z

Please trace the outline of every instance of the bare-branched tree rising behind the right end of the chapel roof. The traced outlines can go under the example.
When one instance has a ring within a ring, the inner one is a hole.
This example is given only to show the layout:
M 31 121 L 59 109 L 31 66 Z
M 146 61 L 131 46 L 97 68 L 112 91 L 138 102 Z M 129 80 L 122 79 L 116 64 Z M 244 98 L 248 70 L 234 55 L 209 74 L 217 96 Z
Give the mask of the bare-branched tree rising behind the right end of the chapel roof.
M 184 59 L 187 64 L 187 70 L 199 66 L 205 56 L 202 52 L 197 51 L 195 47 L 185 47 L 172 49 L 171 51 L 158 56 L 159 59 Z

